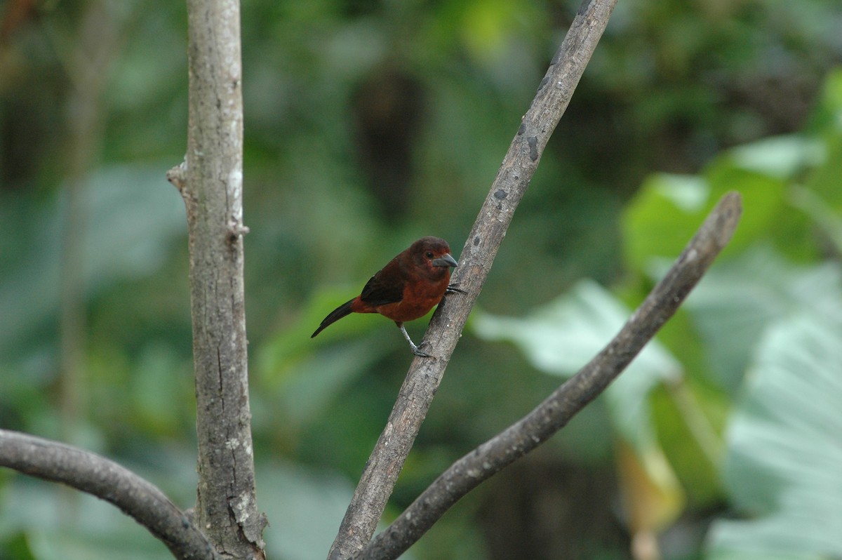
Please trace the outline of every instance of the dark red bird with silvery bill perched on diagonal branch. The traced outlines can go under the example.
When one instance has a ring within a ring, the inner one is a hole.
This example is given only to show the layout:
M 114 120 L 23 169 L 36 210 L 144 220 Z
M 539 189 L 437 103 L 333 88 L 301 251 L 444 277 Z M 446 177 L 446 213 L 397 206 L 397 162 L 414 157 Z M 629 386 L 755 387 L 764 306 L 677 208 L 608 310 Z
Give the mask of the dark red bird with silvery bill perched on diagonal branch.
M 441 301 L 445 292 L 461 292 L 450 285 L 450 267 L 456 264 L 444 239 L 421 237 L 372 276 L 359 296 L 324 317 L 310 338 L 349 313 L 380 313 L 397 324 L 414 355 L 429 358 L 430 355 L 419 348 L 426 343 L 416 346 L 403 323 L 424 317 Z

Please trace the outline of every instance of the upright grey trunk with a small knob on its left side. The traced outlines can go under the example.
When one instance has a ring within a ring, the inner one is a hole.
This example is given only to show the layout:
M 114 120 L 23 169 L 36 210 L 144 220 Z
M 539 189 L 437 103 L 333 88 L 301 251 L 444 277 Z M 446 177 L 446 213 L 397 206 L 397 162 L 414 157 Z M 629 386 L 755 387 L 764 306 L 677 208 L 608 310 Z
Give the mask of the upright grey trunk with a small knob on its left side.
M 189 130 L 171 180 L 187 206 L 199 488 L 196 523 L 225 557 L 262 558 L 242 278 L 237 0 L 189 0 Z

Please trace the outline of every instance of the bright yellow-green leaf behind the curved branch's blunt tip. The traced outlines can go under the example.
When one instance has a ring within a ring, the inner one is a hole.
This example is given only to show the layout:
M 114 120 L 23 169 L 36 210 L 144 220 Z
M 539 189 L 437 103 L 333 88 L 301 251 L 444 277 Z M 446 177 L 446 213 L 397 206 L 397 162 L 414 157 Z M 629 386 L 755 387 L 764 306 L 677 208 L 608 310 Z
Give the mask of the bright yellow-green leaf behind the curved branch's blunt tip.
M 812 226 L 842 243 L 842 221 L 834 215 L 840 153 L 839 135 L 775 136 L 723 152 L 699 175 L 650 175 L 623 214 L 627 266 L 643 272 L 653 259 L 674 258 L 729 190 L 743 196 L 744 212 L 726 253 L 770 240 L 791 259 L 816 260 L 822 255 Z

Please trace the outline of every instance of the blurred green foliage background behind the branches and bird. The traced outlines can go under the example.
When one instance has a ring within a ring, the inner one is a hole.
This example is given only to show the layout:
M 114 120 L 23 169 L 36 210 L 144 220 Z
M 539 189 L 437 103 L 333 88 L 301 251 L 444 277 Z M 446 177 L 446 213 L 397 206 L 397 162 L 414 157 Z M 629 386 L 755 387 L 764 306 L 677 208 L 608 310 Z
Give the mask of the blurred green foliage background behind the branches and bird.
M 327 312 L 459 257 L 577 2 L 244 0 L 246 298 L 269 557 L 322 558 L 411 355 Z M 0 5 L 0 427 L 195 501 L 186 13 Z M 624 0 L 514 216 L 387 520 L 616 333 L 719 196 L 732 245 L 609 392 L 416 559 L 842 557 L 842 7 Z M 408 325 L 420 339 L 426 319 Z M 165 558 L 0 471 L 0 558 Z

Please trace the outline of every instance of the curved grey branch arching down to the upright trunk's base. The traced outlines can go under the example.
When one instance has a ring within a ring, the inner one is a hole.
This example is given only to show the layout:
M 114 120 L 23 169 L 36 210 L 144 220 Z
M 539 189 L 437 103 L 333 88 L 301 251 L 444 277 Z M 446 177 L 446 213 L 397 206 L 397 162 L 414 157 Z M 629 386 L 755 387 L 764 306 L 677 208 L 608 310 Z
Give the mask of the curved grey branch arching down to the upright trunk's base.
M 0 429 L 0 466 L 67 484 L 114 504 L 163 541 L 175 557 L 217 558 L 210 542 L 161 490 L 103 456 Z

